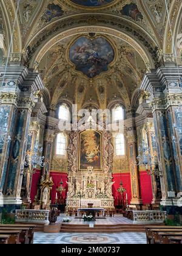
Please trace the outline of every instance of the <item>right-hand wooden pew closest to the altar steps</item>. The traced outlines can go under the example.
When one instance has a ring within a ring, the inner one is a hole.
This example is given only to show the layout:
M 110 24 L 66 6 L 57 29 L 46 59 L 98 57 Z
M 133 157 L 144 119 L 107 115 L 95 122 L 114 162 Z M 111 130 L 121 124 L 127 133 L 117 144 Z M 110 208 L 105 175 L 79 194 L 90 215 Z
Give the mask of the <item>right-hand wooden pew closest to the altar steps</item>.
M 152 226 L 146 227 L 147 244 L 160 243 L 160 232 L 166 232 L 174 236 L 174 233 L 182 232 L 182 227 Z

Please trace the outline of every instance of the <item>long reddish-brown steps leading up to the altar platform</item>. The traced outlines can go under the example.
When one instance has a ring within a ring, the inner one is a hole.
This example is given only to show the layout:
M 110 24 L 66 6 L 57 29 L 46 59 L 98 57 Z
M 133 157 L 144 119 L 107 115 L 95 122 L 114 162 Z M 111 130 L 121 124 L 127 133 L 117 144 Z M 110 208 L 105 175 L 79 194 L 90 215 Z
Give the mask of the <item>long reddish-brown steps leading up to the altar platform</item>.
M 120 232 L 145 232 L 149 225 L 117 224 L 117 225 L 89 225 L 62 224 L 60 232 L 65 233 L 120 233 Z

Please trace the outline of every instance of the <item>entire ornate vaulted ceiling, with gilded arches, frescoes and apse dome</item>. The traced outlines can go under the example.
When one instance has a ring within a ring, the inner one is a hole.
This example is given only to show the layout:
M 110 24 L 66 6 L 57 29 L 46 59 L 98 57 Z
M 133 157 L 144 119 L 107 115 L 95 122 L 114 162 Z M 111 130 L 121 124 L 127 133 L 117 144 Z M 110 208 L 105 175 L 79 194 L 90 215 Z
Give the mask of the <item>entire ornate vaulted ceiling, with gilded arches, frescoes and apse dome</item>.
M 51 105 L 120 101 L 130 109 L 146 71 L 173 51 L 170 30 L 181 31 L 179 0 L 5 0 L 6 51 L 18 4 L 12 52 L 41 73 Z

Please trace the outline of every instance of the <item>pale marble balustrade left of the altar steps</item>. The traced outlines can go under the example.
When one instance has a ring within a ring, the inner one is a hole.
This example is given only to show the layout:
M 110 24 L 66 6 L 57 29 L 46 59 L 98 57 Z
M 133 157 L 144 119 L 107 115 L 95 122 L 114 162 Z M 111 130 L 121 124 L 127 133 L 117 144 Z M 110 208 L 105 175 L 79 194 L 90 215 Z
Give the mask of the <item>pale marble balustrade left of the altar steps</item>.
M 16 210 L 16 222 L 49 223 L 49 210 Z

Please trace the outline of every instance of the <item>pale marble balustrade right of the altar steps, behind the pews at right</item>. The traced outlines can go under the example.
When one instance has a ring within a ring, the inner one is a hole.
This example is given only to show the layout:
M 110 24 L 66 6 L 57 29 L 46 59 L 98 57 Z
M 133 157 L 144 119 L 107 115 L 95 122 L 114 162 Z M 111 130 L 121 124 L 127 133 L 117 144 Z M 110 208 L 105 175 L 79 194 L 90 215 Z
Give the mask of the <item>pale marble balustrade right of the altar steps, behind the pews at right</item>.
M 140 223 L 163 223 L 167 218 L 167 212 L 161 211 L 133 211 L 133 221 Z

